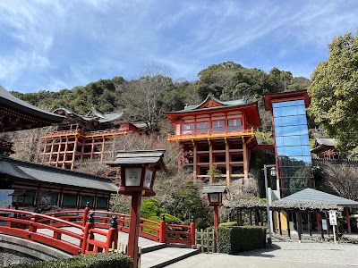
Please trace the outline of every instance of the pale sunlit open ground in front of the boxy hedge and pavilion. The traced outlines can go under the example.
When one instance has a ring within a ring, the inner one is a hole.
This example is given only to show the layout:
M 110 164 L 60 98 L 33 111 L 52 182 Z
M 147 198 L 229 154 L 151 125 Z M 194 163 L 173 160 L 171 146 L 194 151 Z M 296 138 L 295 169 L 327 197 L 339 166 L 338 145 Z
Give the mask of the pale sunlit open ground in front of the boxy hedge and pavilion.
M 272 248 L 243 252 L 240 255 L 200 254 L 166 266 L 167 268 L 211 267 L 352 267 L 358 266 L 358 245 L 276 242 Z

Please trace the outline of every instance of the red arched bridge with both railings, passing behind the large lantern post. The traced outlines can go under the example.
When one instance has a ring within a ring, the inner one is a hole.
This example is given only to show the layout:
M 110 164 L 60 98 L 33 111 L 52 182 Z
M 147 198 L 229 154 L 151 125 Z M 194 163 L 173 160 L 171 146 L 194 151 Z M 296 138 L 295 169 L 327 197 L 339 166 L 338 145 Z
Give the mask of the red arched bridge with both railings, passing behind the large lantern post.
M 36 214 L 0 208 L 0 233 L 55 247 L 71 255 L 107 252 L 129 231 L 130 216 L 107 211 L 61 211 Z M 168 224 L 141 219 L 142 238 L 165 244 L 195 244 L 195 223 Z

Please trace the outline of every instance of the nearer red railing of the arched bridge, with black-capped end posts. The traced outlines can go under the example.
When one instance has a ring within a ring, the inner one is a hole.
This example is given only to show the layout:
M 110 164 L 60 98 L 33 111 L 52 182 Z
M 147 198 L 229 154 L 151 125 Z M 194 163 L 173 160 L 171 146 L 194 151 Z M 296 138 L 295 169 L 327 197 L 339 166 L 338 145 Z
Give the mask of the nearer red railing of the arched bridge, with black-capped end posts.
M 72 255 L 107 252 L 117 244 L 116 218 L 112 219 L 107 230 L 101 230 L 95 228 L 93 214 L 90 214 L 84 226 L 60 217 L 13 209 L 0 208 L 0 214 L 8 214 L 0 216 L 0 232 L 55 247 Z M 72 227 L 72 230 L 64 227 Z M 51 230 L 52 235 L 42 230 Z M 95 234 L 104 236 L 105 242 L 95 239 Z M 66 240 L 63 235 L 67 236 Z

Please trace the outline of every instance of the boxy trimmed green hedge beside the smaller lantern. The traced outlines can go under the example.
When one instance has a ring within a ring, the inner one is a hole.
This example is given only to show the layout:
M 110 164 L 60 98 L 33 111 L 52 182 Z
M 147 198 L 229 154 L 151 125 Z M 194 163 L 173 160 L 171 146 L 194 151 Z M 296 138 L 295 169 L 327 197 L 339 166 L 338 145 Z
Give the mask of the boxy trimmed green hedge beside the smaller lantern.
M 236 254 L 266 247 L 266 228 L 260 226 L 220 226 L 217 229 L 217 251 Z

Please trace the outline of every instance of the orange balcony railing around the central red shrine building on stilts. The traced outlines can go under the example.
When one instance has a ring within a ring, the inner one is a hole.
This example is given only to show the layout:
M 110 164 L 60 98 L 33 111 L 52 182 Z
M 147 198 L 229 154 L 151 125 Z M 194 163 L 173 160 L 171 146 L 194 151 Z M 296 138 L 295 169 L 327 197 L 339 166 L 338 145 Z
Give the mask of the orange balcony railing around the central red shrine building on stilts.
M 204 133 L 188 133 L 181 135 L 168 135 L 167 140 L 185 140 L 185 139 L 201 139 L 201 138 L 225 138 L 225 137 L 242 137 L 253 136 L 253 128 L 247 130 L 230 130 L 221 132 L 204 132 Z

